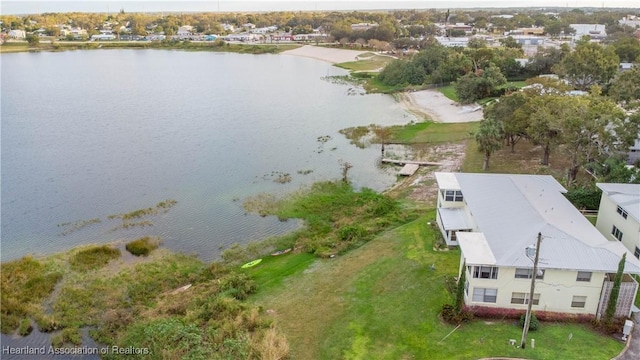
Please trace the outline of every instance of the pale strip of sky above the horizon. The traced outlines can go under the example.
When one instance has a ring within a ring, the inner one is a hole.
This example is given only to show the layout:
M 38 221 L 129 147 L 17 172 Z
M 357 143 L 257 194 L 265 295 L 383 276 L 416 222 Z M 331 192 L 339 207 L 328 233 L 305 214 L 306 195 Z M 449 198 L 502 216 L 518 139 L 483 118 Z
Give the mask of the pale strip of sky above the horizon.
M 381 9 L 509 8 L 509 7 L 622 7 L 640 11 L 640 0 L 2 0 L 0 14 L 39 14 L 43 12 L 249 12 L 249 11 L 325 11 Z

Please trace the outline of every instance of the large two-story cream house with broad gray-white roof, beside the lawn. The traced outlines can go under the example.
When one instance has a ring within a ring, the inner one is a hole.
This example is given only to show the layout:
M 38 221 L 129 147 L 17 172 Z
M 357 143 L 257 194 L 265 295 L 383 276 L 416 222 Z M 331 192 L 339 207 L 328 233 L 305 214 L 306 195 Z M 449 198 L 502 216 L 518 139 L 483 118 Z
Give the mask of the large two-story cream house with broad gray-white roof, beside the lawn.
M 435 175 L 438 225 L 460 246 L 460 268 L 466 263 L 467 306 L 526 310 L 533 273 L 526 249 L 540 233 L 534 311 L 599 317 L 627 253 L 616 315 L 630 315 L 638 283 L 629 274 L 640 273 L 640 261 L 582 216 L 553 177 Z

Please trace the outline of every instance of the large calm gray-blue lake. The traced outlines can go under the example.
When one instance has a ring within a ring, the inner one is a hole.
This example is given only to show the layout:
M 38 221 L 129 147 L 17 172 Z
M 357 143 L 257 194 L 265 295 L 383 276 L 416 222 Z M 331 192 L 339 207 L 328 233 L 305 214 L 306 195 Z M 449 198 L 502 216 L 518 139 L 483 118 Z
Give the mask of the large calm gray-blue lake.
M 2 261 L 145 235 L 216 259 L 234 243 L 300 226 L 246 214 L 250 196 L 338 179 L 344 162 L 357 188 L 393 184 L 396 169 L 379 167 L 379 146 L 360 149 L 338 131 L 414 119 L 390 96 L 324 79 L 345 70 L 284 54 L 95 50 L 0 60 Z M 290 182 L 274 181 L 285 174 Z M 108 218 L 165 199 L 177 204 L 143 218 L 152 226 Z

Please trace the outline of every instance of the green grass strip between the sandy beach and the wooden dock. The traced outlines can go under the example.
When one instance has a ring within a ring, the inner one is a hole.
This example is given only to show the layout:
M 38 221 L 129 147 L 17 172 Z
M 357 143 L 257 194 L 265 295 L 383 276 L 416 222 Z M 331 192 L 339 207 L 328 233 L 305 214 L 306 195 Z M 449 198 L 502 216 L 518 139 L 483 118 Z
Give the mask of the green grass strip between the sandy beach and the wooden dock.
M 434 123 L 420 122 L 391 127 L 392 143 L 446 143 L 464 141 L 478 129 L 478 122 Z

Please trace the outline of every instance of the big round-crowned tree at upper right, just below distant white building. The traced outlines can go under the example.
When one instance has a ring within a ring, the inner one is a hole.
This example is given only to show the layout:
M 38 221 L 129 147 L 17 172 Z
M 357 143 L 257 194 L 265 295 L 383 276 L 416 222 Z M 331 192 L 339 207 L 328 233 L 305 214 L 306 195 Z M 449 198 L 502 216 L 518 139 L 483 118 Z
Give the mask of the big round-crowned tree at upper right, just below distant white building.
M 580 90 L 588 90 L 591 85 L 606 84 L 616 72 L 620 59 L 612 47 L 584 42 L 576 46 L 553 71 L 566 78 Z

